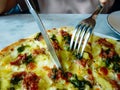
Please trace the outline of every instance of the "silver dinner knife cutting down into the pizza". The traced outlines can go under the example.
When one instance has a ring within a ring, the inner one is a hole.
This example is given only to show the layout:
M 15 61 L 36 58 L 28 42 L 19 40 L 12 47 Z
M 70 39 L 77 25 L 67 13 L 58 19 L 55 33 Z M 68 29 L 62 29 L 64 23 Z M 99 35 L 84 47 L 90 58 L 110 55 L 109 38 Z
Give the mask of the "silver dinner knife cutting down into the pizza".
M 50 54 L 53 57 L 52 60 L 53 60 L 54 64 L 56 65 L 56 67 L 58 69 L 62 69 L 62 66 L 61 66 L 61 64 L 59 62 L 59 59 L 58 59 L 58 57 L 56 55 L 56 52 L 55 52 L 55 50 L 54 50 L 54 48 L 53 48 L 53 46 L 51 44 L 51 41 L 49 39 L 49 36 L 48 36 L 47 31 L 45 29 L 45 26 L 44 26 L 40 16 L 38 15 L 37 11 L 33 8 L 34 3 L 32 1 L 30 2 L 29 0 L 25 0 L 25 2 L 27 4 L 27 7 L 28 7 L 30 13 L 34 17 L 34 19 L 35 19 L 35 21 L 36 21 L 42 35 L 43 35 L 43 38 L 44 38 L 44 40 L 45 40 L 45 42 L 47 44 L 48 50 L 50 51 Z

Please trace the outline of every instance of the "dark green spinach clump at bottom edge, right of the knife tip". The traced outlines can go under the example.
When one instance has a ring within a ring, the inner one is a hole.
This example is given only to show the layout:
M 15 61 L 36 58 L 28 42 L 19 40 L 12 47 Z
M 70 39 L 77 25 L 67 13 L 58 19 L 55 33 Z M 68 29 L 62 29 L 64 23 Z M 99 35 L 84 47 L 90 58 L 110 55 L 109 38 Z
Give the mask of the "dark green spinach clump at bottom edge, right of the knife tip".
M 85 85 L 89 85 L 92 88 L 92 85 L 89 81 L 86 80 L 79 80 L 77 75 L 74 74 L 69 81 L 74 85 L 74 87 L 78 88 L 79 90 L 84 90 Z

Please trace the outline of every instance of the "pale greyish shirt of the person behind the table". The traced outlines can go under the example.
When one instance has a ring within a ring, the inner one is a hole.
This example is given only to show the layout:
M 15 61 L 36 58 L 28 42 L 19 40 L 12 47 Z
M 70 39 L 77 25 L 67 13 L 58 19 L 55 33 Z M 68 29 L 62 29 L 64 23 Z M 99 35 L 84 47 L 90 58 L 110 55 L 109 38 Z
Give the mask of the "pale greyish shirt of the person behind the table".
M 99 0 L 38 0 L 41 13 L 92 13 Z M 114 3 L 110 0 L 106 13 Z

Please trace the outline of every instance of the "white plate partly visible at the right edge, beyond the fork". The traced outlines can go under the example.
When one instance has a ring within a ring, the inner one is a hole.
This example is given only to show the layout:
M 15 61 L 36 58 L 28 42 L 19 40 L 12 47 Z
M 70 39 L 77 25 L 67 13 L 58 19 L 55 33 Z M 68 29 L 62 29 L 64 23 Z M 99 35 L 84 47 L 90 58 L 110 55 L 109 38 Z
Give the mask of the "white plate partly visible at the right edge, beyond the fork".
M 110 28 L 120 35 L 120 11 L 115 11 L 107 17 Z

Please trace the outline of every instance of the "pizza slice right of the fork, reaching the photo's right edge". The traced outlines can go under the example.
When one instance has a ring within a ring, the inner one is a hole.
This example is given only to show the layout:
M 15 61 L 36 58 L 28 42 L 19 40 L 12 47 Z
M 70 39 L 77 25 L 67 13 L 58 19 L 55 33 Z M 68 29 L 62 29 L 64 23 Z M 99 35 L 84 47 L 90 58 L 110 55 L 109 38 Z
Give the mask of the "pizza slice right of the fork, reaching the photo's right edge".
M 102 89 L 120 88 L 120 42 L 113 39 L 94 36 L 92 39 L 94 63 L 92 72 L 95 82 Z

